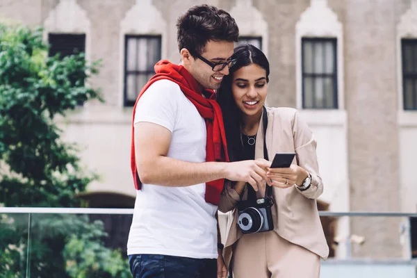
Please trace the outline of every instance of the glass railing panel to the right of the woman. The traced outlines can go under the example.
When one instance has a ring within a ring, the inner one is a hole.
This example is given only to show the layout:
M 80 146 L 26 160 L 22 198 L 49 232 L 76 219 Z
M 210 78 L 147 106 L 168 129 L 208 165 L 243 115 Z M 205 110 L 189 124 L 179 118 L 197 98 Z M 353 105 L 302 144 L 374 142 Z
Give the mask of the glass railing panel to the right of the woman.
M 416 278 L 417 213 L 320 211 L 330 256 L 320 278 Z

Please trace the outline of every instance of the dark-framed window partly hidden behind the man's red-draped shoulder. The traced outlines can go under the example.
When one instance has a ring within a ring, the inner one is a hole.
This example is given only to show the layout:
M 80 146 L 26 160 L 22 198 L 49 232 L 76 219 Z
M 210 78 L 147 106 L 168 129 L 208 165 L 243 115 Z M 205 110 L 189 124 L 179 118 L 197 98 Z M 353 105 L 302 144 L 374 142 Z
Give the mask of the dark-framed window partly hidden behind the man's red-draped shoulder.
M 124 49 L 124 106 L 133 106 L 161 60 L 161 35 L 126 35 Z

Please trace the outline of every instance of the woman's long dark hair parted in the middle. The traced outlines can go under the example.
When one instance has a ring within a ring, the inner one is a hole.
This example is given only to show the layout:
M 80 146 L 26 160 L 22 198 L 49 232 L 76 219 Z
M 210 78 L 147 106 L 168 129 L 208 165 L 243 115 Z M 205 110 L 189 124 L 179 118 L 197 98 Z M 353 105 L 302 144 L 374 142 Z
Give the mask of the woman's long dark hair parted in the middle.
M 236 64 L 230 68 L 229 75 L 224 76 L 222 86 L 218 90 L 218 103 L 222 108 L 224 129 L 226 131 L 227 151 L 230 161 L 243 160 L 243 145 L 240 138 L 240 124 L 242 123 L 241 112 L 236 106 L 231 92 L 231 82 L 234 73 L 241 67 L 251 64 L 259 65 L 266 71 L 266 81 L 270 73 L 269 62 L 265 54 L 252 44 L 242 44 L 234 49 L 232 59 L 236 59 Z

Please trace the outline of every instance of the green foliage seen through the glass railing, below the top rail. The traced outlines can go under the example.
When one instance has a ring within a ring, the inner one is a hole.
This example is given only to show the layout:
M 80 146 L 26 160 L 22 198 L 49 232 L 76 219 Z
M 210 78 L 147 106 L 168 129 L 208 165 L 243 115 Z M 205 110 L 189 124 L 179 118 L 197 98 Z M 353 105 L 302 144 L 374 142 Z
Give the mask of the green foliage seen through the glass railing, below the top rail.
M 102 222 L 91 223 L 86 215 L 31 218 L 30 238 L 28 215 L 3 215 L 0 220 L 0 274 L 8 275 L 4 277 L 24 277 L 26 269 L 36 278 L 130 277 L 128 261 L 118 250 L 104 247 Z

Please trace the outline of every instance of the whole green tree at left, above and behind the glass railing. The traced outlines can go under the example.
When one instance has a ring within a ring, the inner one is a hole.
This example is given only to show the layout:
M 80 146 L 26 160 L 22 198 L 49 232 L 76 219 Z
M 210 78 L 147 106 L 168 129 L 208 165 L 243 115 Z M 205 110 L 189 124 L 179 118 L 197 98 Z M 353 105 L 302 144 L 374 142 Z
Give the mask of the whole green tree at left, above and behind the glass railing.
M 83 54 L 48 56 L 42 29 L 0 24 L 0 204 L 81 206 L 78 193 L 97 178 L 54 120 L 80 102 L 102 101 L 85 85 L 97 74 Z M 0 215 L 1 277 L 129 277 L 108 250 L 101 222 L 76 215 Z M 29 229 L 31 229 L 30 236 Z M 30 243 L 30 244 L 29 244 Z M 27 256 L 27 254 L 29 256 Z M 27 259 L 29 258 L 29 259 Z

